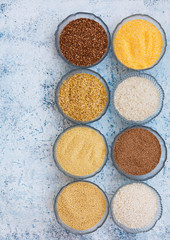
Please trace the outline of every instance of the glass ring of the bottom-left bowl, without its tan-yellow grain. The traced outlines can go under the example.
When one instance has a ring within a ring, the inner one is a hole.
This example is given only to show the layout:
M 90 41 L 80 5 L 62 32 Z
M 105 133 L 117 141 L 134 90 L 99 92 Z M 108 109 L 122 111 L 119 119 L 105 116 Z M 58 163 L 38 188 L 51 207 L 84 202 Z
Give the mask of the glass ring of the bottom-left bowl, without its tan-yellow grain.
M 80 182 L 80 181 L 75 181 L 75 182 Z M 98 228 L 100 228 L 103 223 L 106 221 L 107 219 L 107 216 L 108 216 L 108 213 L 109 213 L 109 201 L 108 201 L 108 198 L 106 196 L 106 194 L 104 193 L 104 191 L 95 183 L 92 183 L 92 182 L 89 182 L 89 181 L 81 181 L 81 182 L 88 182 L 88 183 L 91 183 L 93 185 L 95 185 L 103 194 L 104 196 L 104 199 L 105 199 L 105 203 L 106 203 L 106 209 L 105 209 L 105 212 L 104 212 L 104 215 L 103 217 L 101 218 L 101 220 L 92 228 L 90 229 L 87 229 L 87 230 L 75 230 L 71 227 L 69 227 L 68 225 L 66 225 L 62 220 L 61 218 L 59 217 L 59 214 L 58 214 L 58 211 L 57 211 L 57 200 L 58 200 L 58 197 L 60 195 L 60 193 L 70 184 L 73 184 L 75 182 L 72 182 L 72 183 L 68 183 L 66 186 L 64 186 L 63 188 L 60 189 L 60 191 L 58 192 L 57 196 L 55 197 L 55 200 L 54 200 L 54 213 L 55 213 L 55 216 L 56 216 L 56 219 L 58 221 L 58 223 L 63 227 L 65 228 L 66 230 L 74 233 L 74 234 L 79 234 L 79 235 L 83 235 L 83 234 L 87 234 L 87 233 L 92 233 L 94 231 L 96 231 Z

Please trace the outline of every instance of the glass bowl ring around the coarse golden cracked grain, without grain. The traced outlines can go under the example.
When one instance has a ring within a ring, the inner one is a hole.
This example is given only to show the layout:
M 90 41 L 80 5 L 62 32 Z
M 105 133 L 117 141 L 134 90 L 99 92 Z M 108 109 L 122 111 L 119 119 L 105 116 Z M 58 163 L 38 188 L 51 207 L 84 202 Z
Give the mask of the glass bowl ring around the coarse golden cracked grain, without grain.
M 62 84 L 71 76 L 75 75 L 75 74 L 78 74 L 78 73 L 86 73 L 86 74 L 91 74 L 95 77 L 97 77 L 101 83 L 104 85 L 105 87 L 105 90 L 106 90 L 106 93 L 107 93 L 107 102 L 106 102 L 106 105 L 105 105 L 105 108 L 103 110 L 103 112 L 101 112 L 101 114 L 90 120 L 90 121 L 78 121 L 78 120 L 75 120 L 71 117 L 69 117 L 68 115 L 66 115 L 64 113 L 64 111 L 62 110 L 62 108 L 60 107 L 59 105 L 59 102 L 58 102 L 58 95 L 59 95 L 59 90 L 60 90 L 60 87 L 62 86 Z M 74 122 L 74 123 L 77 123 L 77 124 L 88 124 L 88 123 L 91 123 L 91 122 L 95 122 L 97 120 L 99 120 L 105 113 L 106 113 L 106 110 L 108 108 L 108 105 L 109 105 L 109 102 L 110 102 L 110 92 L 109 92 L 109 87 L 106 83 L 106 81 L 104 80 L 104 78 L 102 78 L 97 72 L 94 72 L 92 70 L 89 70 L 89 69 L 76 69 L 76 70 L 72 70 L 70 72 L 68 72 L 67 74 L 65 74 L 62 79 L 59 81 L 58 85 L 57 85 L 57 88 L 56 88 L 56 92 L 55 92 L 55 102 L 56 102 L 56 105 L 57 105 L 57 108 L 59 110 L 59 112 L 63 115 L 63 117 L 67 118 L 68 120 Z

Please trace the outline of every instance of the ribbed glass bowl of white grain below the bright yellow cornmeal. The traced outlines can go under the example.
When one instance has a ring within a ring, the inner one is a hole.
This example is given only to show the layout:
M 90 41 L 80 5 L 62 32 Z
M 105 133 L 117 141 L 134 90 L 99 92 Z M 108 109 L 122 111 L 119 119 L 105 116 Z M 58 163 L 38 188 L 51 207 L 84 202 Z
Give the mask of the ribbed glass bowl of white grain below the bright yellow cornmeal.
M 113 93 L 114 111 L 130 125 L 145 124 L 159 115 L 164 91 L 146 73 L 129 73 L 118 81 Z

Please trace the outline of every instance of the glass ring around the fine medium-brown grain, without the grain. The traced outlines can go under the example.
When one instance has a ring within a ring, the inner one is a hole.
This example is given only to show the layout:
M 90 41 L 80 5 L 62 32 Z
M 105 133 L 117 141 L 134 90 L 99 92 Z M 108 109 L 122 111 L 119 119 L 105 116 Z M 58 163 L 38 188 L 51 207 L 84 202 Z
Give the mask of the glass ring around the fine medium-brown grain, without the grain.
M 159 163 L 157 164 L 157 166 L 151 172 L 149 172 L 149 173 L 147 173 L 145 175 L 132 175 L 132 174 L 126 173 L 125 171 L 123 171 L 118 166 L 118 164 L 116 163 L 116 161 L 114 159 L 114 146 L 115 146 L 115 143 L 116 143 L 118 137 L 122 133 L 124 133 L 127 130 L 132 129 L 132 128 L 143 128 L 143 129 L 146 129 L 146 130 L 150 131 L 151 133 L 153 133 L 155 135 L 155 137 L 158 139 L 158 141 L 160 143 L 161 156 L 160 156 Z M 124 129 L 122 132 L 120 132 L 115 137 L 115 139 L 113 141 L 113 144 L 112 144 L 112 149 L 111 149 L 111 158 L 112 158 L 114 167 L 118 170 L 119 173 L 121 173 L 122 175 L 126 176 L 127 178 L 135 180 L 135 181 L 144 181 L 144 180 L 148 180 L 148 179 L 153 178 L 154 176 L 156 176 L 161 171 L 161 169 L 164 167 L 165 161 L 167 159 L 167 148 L 166 148 L 165 141 L 163 140 L 163 138 L 159 135 L 158 132 L 154 131 L 152 128 L 144 127 L 144 126 L 133 126 L 133 127 L 129 127 L 129 128 Z

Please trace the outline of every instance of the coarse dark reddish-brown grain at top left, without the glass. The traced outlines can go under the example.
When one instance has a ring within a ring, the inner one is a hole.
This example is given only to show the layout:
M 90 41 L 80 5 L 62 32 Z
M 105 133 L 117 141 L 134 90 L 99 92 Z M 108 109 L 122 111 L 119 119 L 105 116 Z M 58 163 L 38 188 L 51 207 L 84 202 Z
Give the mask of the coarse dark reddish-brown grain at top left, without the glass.
M 88 18 L 69 22 L 60 34 L 62 54 L 77 66 L 89 66 L 98 62 L 106 53 L 107 44 L 104 28 Z

